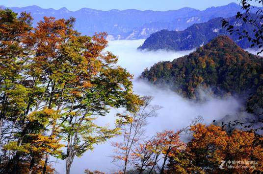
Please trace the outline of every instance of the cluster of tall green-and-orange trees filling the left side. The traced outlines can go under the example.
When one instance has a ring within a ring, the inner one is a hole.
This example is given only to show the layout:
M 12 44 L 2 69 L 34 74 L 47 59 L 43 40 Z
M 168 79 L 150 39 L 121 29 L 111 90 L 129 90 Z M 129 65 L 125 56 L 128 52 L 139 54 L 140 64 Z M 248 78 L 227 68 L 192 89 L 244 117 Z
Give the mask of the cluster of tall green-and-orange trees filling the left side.
M 96 117 L 111 108 L 132 112 L 141 104 L 132 92 L 132 75 L 104 51 L 106 33 L 82 36 L 73 18 L 45 17 L 31 28 L 26 13 L 0 15 L 0 170 L 45 174 L 54 155 L 66 159 L 69 174 L 76 155 L 119 131 L 96 125 Z M 67 144 L 64 153 L 61 141 Z

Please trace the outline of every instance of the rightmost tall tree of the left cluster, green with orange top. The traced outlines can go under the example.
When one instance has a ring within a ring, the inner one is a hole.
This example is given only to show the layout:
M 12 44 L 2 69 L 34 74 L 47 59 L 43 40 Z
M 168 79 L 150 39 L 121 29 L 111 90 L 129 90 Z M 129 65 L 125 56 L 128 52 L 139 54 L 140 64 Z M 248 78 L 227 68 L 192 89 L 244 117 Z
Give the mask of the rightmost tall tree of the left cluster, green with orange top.
M 81 58 L 84 64 L 80 64 L 84 67 L 77 66 L 77 71 L 73 71 L 77 74 L 76 82 L 66 88 L 66 101 L 69 100 L 70 105 L 64 109 L 66 112 L 61 126 L 67 137 L 67 173 L 76 155 L 93 149 L 93 144 L 104 142 L 119 130 L 93 124 L 94 116 L 105 116 L 110 108 L 125 107 L 132 111 L 140 103 L 138 96 L 132 94 L 132 75 L 120 66 L 114 66 L 116 56 L 110 52 L 103 53 L 107 45 L 105 36 L 105 33 L 96 34 L 84 44 L 85 51 Z M 65 47 L 62 54 L 75 56 L 73 51 Z

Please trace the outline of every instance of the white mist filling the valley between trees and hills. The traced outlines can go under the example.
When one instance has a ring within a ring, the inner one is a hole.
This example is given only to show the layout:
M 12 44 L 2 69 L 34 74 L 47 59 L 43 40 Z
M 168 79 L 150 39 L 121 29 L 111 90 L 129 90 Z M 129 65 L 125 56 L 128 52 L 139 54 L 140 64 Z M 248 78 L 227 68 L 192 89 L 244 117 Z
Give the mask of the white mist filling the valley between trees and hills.
M 172 61 L 176 58 L 189 54 L 194 50 L 170 52 L 170 51 L 138 51 L 137 47 L 144 40 L 121 40 L 111 41 L 107 50 L 117 55 L 118 64 L 127 68 L 134 74 L 133 90 L 141 96 L 152 95 L 154 97 L 152 105 L 159 105 L 158 117 L 150 118 L 146 127 L 145 138 L 155 135 L 156 132 L 165 129 L 180 130 L 188 126 L 195 117 L 202 116 L 205 124 L 211 124 L 213 120 L 220 120 L 226 115 L 236 115 L 241 103 L 235 98 L 217 99 L 208 97 L 205 102 L 197 103 L 183 98 L 169 89 L 159 89 L 148 82 L 137 80 L 137 77 L 146 68 L 150 68 L 159 61 Z M 114 126 L 115 113 L 122 112 L 121 109 L 113 109 L 107 116 L 99 118 L 96 123 L 99 125 Z M 76 157 L 72 168 L 72 174 L 82 174 L 85 169 L 100 170 L 110 173 L 118 170 L 112 164 L 109 157 L 113 154 L 110 145 L 112 141 L 118 141 L 118 137 L 107 141 L 105 144 L 97 145 L 94 152 L 86 152 L 81 158 Z M 53 159 L 53 158 L 52 158 Z M 65 173 L 65 161 L 54 164 L 58 173 Z

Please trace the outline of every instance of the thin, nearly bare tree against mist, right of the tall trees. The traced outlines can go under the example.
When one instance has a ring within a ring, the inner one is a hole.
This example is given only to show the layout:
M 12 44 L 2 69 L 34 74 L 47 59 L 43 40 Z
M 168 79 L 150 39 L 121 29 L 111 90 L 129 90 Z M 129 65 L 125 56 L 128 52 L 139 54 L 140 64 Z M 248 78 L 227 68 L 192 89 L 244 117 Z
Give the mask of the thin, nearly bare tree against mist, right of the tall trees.
M 134 145 L 143 136 L 145 126 L 148 124 L 148 118 L 156 117 L 159 106 L 152 106 L 153 97 L 142 97 L 143 104 L 136 112 L 127 112 L 126 114 L 118 114 L 121 119 L 117 119 L 117 127 L 121 129 L 123 142 L 112 143 L 115 147 L 117 155 L 112 156 L 113 160 L 124 161 L 123 173 L 126 174 L 127 165 L 130 162 L 130 155 Z

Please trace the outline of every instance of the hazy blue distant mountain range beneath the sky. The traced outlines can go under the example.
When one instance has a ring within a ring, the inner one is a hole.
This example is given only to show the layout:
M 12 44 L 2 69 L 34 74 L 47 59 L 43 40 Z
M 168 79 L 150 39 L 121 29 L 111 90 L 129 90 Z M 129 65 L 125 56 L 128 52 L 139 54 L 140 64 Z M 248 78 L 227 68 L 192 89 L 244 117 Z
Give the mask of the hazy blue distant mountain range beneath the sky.
M 7 8 L 0 6 L 0 8 Z M 84 35 L 93 35 L 95 32 L 106 31 L 108 39 L 146 39 L 152 33 L 162 29 L 184 30 L 194 23 L 207 22 L 213 18 L 228 18 L 240 11 L 240 6 L 230 3 L 225 6 L 211 7 L 200 11 L 193 8 L 182 8 L 172 11 L 140 11 L 110 10 L 101 11 L 82 8 L 78 11 L 69 11 L 66 8 L 54 10 L 43 9 L 38 6 L 27 6 L 23 8 L 11 7 L 13 11 L 30 12 L 34 18 L 34 25 L 44 16 L 59 18 L 75 17 L 77 22 L 75 28 Z

